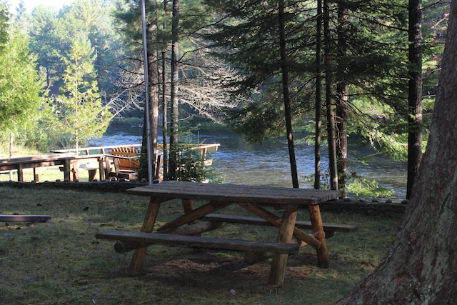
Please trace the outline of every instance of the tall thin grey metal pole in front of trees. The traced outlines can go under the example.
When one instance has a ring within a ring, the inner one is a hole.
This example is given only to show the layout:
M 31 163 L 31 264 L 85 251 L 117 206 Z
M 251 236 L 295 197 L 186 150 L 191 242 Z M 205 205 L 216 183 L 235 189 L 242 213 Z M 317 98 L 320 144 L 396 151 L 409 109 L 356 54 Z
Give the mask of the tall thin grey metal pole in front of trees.
M 152 172 L 152 147 L 151 147 L 151 119 L 149 117 L 149 74 L 148 74 L 148 46 L 146 40 L 146 6 L 145 0 L 141 0 L 141 18 L 143 21 L 143 59 L 144 59 L 144 92 L 146 94 L 144 103 L 144 111 L 146 112 L 146 144 L 148 146 L 147 157 L 148 157 L 148 181 L 149 185 L 152 185 L 153 172 Z

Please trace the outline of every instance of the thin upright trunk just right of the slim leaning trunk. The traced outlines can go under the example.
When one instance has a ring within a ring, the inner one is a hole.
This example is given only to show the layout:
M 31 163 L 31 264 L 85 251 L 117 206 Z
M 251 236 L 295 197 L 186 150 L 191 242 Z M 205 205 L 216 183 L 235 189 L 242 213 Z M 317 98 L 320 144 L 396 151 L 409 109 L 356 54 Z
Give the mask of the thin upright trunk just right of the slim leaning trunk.
M 314 136 L 314 189 L 321 189 L 322 106 L 322 0 L 317 0 L 316 24 L 316 126 Z

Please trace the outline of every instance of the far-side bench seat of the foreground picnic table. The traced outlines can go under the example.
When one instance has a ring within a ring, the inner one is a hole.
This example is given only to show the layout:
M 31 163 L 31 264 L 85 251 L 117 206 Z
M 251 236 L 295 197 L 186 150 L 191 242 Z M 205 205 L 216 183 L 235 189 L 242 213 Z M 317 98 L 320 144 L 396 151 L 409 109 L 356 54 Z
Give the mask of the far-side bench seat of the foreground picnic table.
M 238 216 L 238 215 L 227 215 L 227 214 L 208 214 L 204 216 L 205 220 L 209 221 L 221 221 L 221 222 L 229 222 L 233 224 L 251 224 L 256 226 L 271 226 L 268 221 L 262 219 L 260 217 L 253 217 L 253 216 Z M 329 222 L 323 222 L 323 231 L 326 232 L 353 232 L 357 230 L 357 226 L 352 224 L 332 224 Z M 297 220 L 295 226 L 300 229 L 313 229 L 311 225 L 311 221 L 301 221 Z

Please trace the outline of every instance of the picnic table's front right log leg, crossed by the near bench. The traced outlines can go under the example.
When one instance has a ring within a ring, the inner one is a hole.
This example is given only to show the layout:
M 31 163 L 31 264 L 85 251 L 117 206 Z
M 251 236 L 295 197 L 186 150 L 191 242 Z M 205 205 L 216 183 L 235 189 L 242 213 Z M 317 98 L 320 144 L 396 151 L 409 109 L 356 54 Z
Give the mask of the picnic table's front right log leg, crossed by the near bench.
M 278 239 L 279 243 L 290 243 L 295 228 L 297 218 L 297 206 L 288 204 L 283 211 L 281 226 L 279 227 Z M 288 254 L 276 254 L 271 262 L 269 285 L 280 285 L 284 282 L 284 274 L 286 273 Z

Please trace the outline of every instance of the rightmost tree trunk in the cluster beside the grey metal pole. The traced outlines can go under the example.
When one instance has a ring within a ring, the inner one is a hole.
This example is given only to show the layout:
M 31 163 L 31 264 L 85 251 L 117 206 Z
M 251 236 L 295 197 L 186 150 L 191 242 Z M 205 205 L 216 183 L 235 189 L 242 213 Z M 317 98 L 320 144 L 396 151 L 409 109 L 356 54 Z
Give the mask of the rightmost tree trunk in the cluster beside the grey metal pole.
M 170 117 L 170 159 L 169 179 L 176 180 L 178 167 L 179 138 L 179 0 L 173 0 L 173 20 L 171 22 L 171 117 Z

